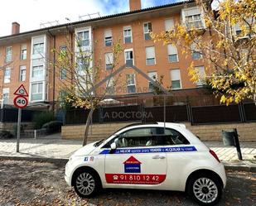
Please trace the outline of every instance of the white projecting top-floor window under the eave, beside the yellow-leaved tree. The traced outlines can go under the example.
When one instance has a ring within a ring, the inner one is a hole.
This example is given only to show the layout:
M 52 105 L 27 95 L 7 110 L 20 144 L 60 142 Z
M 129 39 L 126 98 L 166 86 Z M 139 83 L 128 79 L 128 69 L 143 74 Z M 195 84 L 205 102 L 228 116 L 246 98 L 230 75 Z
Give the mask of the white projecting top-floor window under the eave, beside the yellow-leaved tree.
M 200 7 L 190 7 L 182 10 L 183 21 L 188 29 L 205 27 Z

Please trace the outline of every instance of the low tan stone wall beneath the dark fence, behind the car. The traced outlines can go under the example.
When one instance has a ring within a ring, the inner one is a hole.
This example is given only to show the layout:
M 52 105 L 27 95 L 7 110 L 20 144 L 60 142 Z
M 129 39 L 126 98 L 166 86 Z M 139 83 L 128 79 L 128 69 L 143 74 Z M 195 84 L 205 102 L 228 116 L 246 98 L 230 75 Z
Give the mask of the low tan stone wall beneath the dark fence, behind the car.
M 126 123 L 106 123 L 94 124 L 92 131 L 89 131 L 89 141 L 100 140 L 109 137 L 112 133 L 121 127 L 125 127 L 131 122 Z M 185 122 L 186 128 L 200 137 L 202 141 L 222 141 L 221 131 L 230 131 L 237 128 L 240 141 L 256 141 L 256 122 L 250 123 L 232 123 L 232 124 L 211 124 L 191 126 Z M 61 136 L 64 139 L 81 140 L 84 136 L 85 125 L 63 126 L 61 127 Z

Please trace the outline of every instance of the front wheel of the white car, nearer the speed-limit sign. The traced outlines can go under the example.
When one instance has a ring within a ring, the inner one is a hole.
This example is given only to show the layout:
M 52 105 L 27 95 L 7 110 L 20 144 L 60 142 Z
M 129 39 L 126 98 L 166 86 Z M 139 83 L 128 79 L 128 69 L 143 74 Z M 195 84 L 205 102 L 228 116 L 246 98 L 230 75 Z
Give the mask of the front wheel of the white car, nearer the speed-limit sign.
M 94 197 L 101 189 L 99 175 L 93 170 L 79 170 L 74 176 L 74 189 L 81 198 Z

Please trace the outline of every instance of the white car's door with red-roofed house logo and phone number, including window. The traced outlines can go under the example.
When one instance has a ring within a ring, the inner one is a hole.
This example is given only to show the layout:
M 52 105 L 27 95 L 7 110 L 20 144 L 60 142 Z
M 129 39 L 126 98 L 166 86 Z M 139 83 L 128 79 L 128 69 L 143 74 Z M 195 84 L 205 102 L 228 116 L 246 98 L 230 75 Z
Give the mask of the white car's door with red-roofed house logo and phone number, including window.
M 156 127 L 133 128 L 109 142 L 116 142 L 117 149 L 109 152 L 106 146 L 103 151 L 107 187 L 161 187 L 167 175 L 167 156 L 153 144 L 156 133 Z

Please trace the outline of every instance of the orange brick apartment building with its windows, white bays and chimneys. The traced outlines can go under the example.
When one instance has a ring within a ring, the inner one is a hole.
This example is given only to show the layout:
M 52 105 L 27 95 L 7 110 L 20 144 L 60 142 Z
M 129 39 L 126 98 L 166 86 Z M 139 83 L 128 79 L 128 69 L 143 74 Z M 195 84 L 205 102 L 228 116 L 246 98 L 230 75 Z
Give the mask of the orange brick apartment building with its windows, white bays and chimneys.
M 176 2 L 159 7 L 141 8 L 140 0 L 129 0 L 130 11 L 82 22 L 51 26 L 35 31 L 19 32 L 19 24 L 12 23 L 12 35 L 0 37 L 0 93 L 4 103 L 12 103 L 19 84 L 24 84 L 31 103 L 53 103 L 61 91 L 60 82 L 65 73 L 49 64 L 56 60 L 51 50 L 65 50 L 66 31 L 75 50 L 74 36 L 80 36 L 85 47 L 94 51 L 94 61 L 102 60 L 102 70 L 112 68 L 114 42 L 121 40 L 123 53 L 119 65 L 122 71 L 119 89 L 112 95 L 147 93 L 152 84 L 136 74 L 129 66 L 135 65 L 149 77 L 163 76 L 163 86 L 174 90 L 195 89 L 201 83 L 190 81 L 187 68 L 194 61 L 201 73 L 205 60 L 196 51 L 191 56 L 182 54 L 181 48 L 154 42 L 150 32 L 170 31 L 175 24 L 204 28 L 200 7 L 196 2 Z M 209 35 L 207 32 L 204 36 Z M 205 37 L 206 38 L 206 37 Z M 93 63 L 92 63 L 93 64 Z M 104 77 L 102 77 L 104 78 Z

